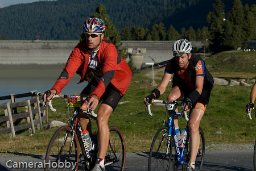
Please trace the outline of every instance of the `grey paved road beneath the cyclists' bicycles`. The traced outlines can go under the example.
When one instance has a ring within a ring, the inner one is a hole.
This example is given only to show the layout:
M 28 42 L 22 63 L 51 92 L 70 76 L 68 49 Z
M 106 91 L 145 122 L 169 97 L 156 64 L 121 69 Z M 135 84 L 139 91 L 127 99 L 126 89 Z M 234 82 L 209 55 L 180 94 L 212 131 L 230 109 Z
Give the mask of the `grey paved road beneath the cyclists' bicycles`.
M 148 153 L 127 153 L 125 170 L 147 170 Z M 8 169 L 6 161 L 15 162 L 43 161 L 44 156 L 11 155 L 0 157 L 0 170 L 35 170 L 35 169 Z M 181 167 L 180 167 L 181 169 Z M 43 170 L 43 169 L 37 169 Z M 208 150 L 205 151 L 203 170 L 253 170 L 253 150 Z

